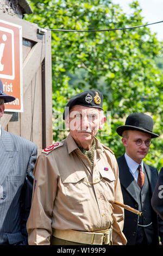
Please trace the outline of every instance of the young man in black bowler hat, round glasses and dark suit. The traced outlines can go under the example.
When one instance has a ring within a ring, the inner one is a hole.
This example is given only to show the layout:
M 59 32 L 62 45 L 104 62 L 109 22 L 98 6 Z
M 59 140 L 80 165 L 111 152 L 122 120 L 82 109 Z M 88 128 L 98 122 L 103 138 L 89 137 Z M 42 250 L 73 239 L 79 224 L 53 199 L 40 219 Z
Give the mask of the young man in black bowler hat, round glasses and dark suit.
M 124 210 L 123 233 L 127 245 L 159 245 L 163 241 L 163 222 L 151 206 L 158 170 L 143 161 L 153 133 L 153 119 L 147 114 L 130 114 L 125 125 L 117 127 L 126 153 L 117 159 L 124 204 L 141 212 L 138 216 Z

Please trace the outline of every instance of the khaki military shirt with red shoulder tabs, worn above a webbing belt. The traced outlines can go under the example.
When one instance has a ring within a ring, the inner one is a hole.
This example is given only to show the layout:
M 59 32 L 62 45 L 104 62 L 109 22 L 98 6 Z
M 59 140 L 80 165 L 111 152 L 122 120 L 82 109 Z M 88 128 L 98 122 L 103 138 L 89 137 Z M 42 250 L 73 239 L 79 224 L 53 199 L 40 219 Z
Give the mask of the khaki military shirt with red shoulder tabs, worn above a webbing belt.
M 95 138 L 96 139 L 96 138 Z M 93 168 L 71 134 L 41 153 L 35 164 L 29 245 L 49 245 L 53 229 L 98 231 L 113 226 L 114 245 L 125 245 L 117 162 L 96 139 Z

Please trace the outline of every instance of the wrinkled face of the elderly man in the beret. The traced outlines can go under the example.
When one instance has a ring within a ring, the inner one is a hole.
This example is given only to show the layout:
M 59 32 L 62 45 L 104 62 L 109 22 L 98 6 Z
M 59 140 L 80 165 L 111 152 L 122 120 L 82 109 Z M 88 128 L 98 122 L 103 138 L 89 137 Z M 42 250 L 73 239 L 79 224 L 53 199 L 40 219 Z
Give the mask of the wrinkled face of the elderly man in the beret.
M 97 131 L 102 129 L 102 123 L 104 123 L 102 115 L 103 112 L 98 108 L 73 106 L 66 123 L 75 141 L 82 143 L 93 139 Z

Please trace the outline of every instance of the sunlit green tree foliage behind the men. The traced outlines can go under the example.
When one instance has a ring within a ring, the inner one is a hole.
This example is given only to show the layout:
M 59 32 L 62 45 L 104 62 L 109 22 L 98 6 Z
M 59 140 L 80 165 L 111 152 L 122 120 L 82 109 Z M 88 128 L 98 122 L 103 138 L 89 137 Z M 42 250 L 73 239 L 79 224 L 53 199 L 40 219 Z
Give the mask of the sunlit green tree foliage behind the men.
M 34 14 L 25 19 L 42 28 L 89 31 L 143 24 L 137 1 L 130 5 L 129 17 L 109 0 L 34 0 L 31 5 Z M 98 138 L 116 157 L 124 153 L 116 128 L 130 113 L 151 115 L 154 132 L 162 135 L 162 72 L 155 61 L 161 50 L 162 43 L 149 27 L 92 33 L 52 31 L 54 141 L 67 134 L 55 129 L 62 124 L 57 115 L 63 113 L 71 96 L 86 89 L 98 89 L 104 95 L 104 111 L 111 111 L 111 129 L 99 131 Z M 146 161 L 160 169 L 162 137 L 152 142 Z

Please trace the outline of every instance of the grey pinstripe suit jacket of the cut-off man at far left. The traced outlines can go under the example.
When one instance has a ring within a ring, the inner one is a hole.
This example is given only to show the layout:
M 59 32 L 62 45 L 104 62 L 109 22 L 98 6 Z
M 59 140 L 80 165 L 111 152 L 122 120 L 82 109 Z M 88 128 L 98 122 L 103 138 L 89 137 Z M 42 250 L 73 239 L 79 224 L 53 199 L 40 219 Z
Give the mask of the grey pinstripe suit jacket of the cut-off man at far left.
M 1 130 L 0 245 L 25 245 L 37 147 L 27 139 Z

